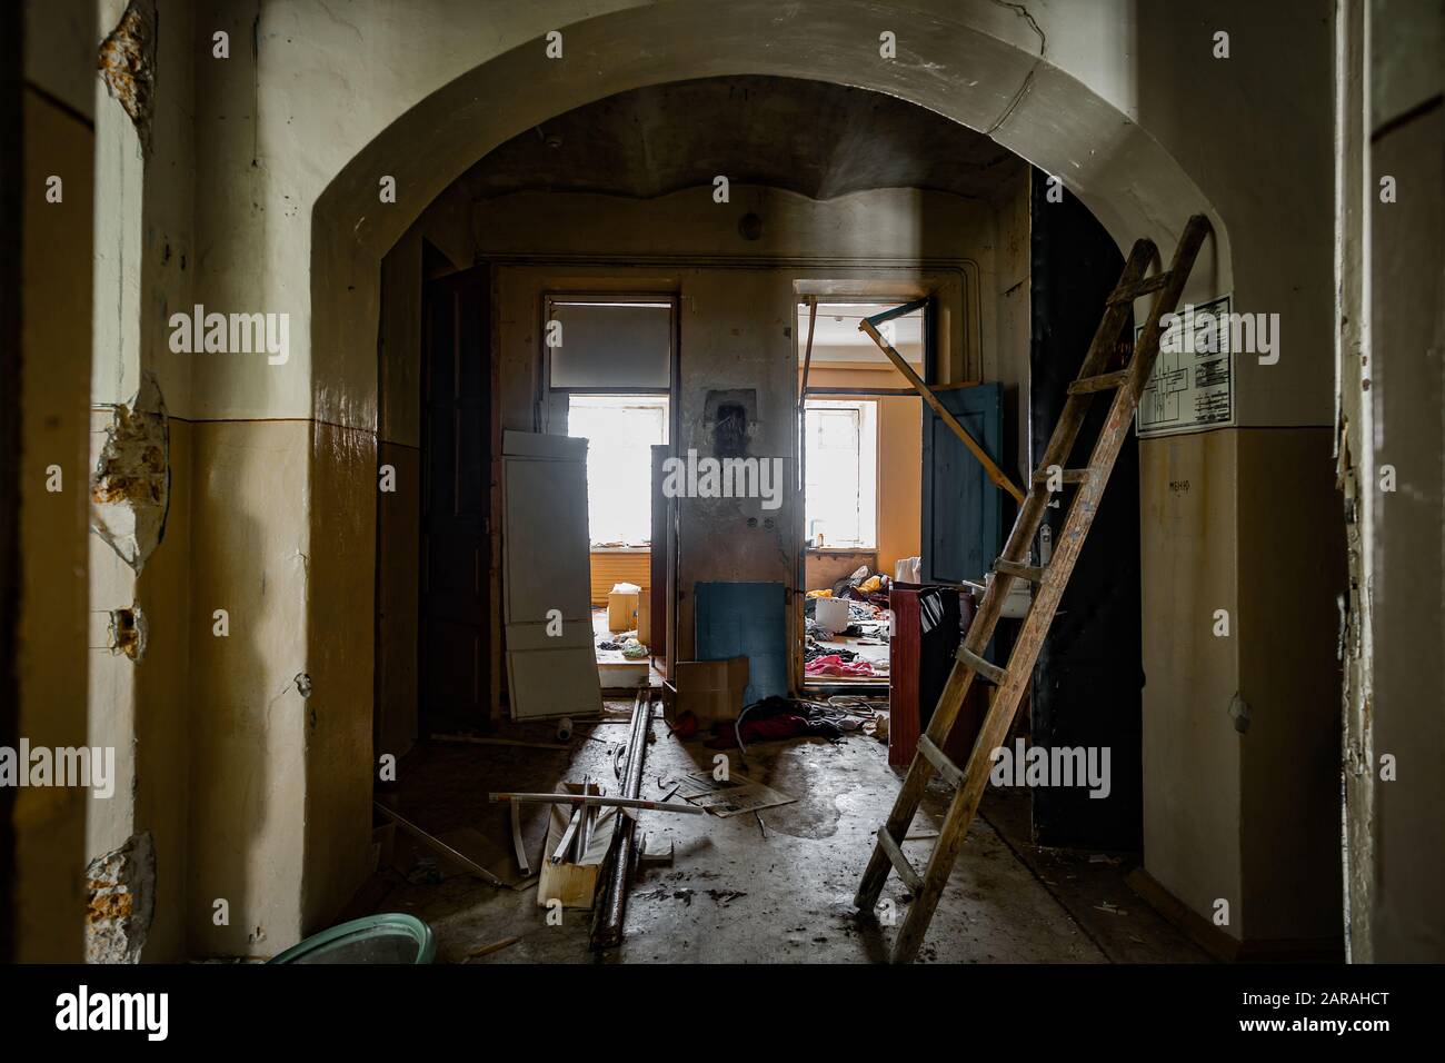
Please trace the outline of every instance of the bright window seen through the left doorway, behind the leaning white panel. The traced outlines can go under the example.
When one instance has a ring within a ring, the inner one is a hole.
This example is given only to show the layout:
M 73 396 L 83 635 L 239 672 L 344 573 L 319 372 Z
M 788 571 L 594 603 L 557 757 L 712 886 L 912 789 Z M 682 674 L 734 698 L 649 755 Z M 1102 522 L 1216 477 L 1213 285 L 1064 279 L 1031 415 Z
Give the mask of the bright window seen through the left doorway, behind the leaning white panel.
M 652 447 L 668 441 L 663 396 L 572 395 L 566 434 L 587 440 L 592 547 L 652 541 Z

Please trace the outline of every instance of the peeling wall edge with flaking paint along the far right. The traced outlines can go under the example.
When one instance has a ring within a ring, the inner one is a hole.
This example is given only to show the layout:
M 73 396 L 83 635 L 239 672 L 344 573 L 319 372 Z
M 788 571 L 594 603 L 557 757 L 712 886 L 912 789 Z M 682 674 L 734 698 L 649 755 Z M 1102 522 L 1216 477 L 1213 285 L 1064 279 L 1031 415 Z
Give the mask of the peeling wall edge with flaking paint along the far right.
M 1350 955 L 1439 962 L 1445 918 L 1445 17 L 1351 0 L 1338 36 L 1338 470 L 1350 544 L 1342 649 Z M 1394 178 L 1394 202 L 1380 181 Z M 1394 490 L 1383 490 L 1387 469 Z M 1383 778 L 1381 758 L 1396 758 Z

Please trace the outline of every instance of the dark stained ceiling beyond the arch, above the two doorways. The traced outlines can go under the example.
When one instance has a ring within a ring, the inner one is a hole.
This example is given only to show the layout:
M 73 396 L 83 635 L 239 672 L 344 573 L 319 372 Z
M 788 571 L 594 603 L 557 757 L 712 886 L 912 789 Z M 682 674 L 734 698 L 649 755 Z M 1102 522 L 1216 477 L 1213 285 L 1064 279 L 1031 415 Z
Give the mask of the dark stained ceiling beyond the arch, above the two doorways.
M 712 184 L 831 200 L 868 188 L 990 198 L 1026 163 L 892 95 L 825 81 L 675 81 L 598 100 L 513 137 L 462 178 L 474 198 L 525 189 L 634 198 Z

